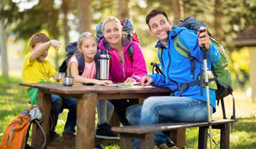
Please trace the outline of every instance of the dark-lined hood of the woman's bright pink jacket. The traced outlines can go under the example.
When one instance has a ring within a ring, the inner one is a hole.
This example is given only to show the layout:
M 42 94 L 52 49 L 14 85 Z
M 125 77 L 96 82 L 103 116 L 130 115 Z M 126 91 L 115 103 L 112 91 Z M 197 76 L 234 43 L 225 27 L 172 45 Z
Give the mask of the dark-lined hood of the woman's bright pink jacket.
M 123 40 L 123 47 L 124 47 L 124 52 L 127 50 L 127 48 L 130 46 L 130 44 L 132 43 L 132 39 L 130 37 L 126 37 Z M 99 42 L 99 48 L 102 50 L 108 50 L 108 52 L 110 52 L 111 50 L 113 50 L 110 46 L 110 43 L 107 41 L 106 38 L 103 38 L 100 42 Z

